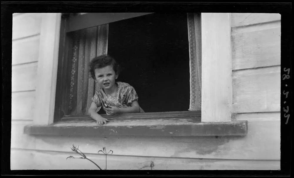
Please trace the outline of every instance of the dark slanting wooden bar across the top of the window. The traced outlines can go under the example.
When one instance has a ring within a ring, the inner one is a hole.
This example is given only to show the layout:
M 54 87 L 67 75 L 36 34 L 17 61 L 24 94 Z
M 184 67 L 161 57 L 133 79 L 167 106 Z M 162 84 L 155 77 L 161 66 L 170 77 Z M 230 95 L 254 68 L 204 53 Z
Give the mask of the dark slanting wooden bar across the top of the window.
M 86 13 L 83 15 L 71 16 L 67 23 L 68 28 L 66 32 L 81 30 L 84 28 L 90 28 L 148 14 L 151 13 Z

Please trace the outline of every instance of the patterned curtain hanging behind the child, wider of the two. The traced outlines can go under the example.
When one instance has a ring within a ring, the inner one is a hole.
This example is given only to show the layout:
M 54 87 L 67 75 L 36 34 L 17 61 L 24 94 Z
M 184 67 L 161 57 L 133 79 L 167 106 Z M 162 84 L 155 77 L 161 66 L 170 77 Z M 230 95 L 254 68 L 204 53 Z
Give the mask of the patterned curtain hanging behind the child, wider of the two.
M 72 32 L 69 42 L 70 87 L 68 115 L 85 115 L 91 105 L 95 82 L 88 73 L 91 59 L 107 54 L 108 24 Z

